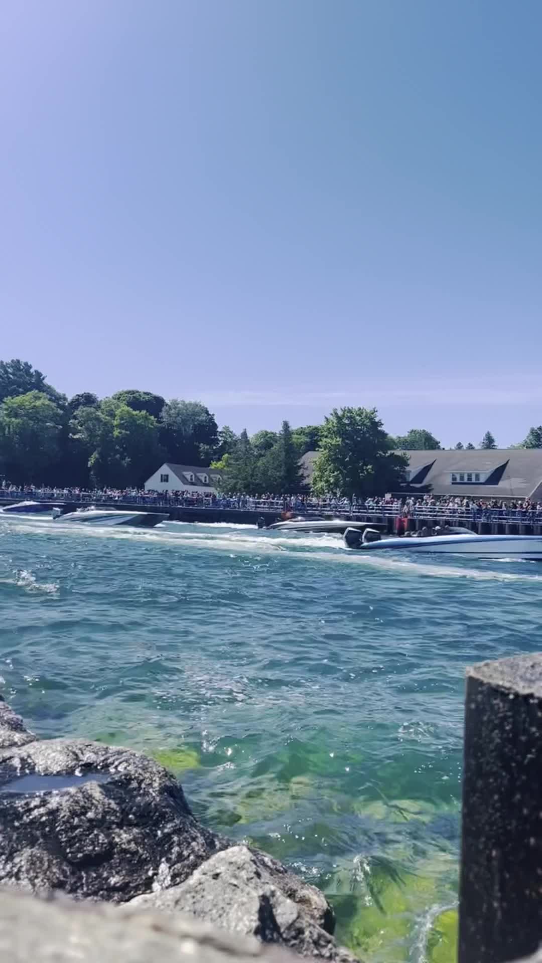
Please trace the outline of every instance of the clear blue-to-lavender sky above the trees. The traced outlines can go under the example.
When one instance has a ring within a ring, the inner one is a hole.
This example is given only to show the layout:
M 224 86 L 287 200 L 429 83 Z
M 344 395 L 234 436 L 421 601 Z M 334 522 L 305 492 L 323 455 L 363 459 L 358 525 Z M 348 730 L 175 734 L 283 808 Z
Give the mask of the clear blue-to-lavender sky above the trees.
M 0 357 L 233 429 L 542 422 L 540 0 L 4 0 Z

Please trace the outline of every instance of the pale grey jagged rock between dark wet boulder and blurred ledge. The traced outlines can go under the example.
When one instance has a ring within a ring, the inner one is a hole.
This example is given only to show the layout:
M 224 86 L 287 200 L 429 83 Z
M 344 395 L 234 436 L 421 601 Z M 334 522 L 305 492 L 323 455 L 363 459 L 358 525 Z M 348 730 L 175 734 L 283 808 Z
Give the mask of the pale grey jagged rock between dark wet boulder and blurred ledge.
M 179 886 L 137 897 L 130 905 L 191 913 L 304 956 L 354 959 L 330 935 L 333 917 L 323 894 L 247 846 L 211 856 Z

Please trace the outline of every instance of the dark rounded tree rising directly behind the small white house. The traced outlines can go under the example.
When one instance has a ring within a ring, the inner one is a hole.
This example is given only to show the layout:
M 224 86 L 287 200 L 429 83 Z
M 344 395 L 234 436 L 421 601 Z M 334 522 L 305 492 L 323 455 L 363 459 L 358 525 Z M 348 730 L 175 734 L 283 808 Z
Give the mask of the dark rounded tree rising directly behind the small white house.
M 164 405 L 162 426 L 162 445 L 177 464 L 208 463 L 218 450 L 215 417 L 200 402 L 173 398 Z

